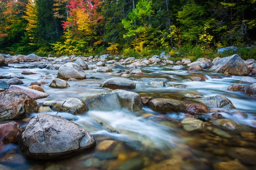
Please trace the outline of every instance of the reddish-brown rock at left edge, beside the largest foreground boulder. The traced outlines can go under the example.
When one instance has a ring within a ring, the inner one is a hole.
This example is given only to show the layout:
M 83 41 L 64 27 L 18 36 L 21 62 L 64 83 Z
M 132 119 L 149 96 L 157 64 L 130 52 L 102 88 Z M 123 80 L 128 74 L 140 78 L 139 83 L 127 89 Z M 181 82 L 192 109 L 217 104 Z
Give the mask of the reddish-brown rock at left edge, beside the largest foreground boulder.
M 18 142 L 22 132 L 20 125 L 17 122 L 9 122 L 0 125 L 0 150 L 4 144 L 15 144 Z

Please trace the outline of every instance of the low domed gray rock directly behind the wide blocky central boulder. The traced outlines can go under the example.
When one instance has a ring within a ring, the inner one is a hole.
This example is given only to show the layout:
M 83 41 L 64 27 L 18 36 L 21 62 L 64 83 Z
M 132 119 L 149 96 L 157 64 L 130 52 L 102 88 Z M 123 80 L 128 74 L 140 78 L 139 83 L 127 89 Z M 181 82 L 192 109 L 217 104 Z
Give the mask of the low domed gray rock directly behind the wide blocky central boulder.
M 100 87 L 110 89 L 135 89 L 136 83 L 125 78 L 113 77 L 103 82 Z

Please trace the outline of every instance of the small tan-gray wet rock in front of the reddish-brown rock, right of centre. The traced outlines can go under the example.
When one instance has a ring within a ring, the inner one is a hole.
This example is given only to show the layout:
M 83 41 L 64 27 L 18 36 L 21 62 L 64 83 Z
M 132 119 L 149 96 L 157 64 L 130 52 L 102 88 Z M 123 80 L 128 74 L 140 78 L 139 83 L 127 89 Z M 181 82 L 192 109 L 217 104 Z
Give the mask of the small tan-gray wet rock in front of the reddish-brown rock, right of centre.
M 204 130 L 204 122 L 192 117 L 186 117 L 180 122 L 183 125 L 183 129 L 186 131 Z

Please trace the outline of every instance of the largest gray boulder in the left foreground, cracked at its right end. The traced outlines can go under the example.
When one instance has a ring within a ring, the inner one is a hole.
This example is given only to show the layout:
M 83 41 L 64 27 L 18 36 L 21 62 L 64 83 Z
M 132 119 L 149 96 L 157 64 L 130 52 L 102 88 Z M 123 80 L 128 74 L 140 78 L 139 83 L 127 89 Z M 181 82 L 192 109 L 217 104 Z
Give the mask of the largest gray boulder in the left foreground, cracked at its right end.
M 20 139 L 20 149 L 32 159 L 59 159 L 95 145 L 95 139 L 83 127 L 43 113 L 30 120 Z

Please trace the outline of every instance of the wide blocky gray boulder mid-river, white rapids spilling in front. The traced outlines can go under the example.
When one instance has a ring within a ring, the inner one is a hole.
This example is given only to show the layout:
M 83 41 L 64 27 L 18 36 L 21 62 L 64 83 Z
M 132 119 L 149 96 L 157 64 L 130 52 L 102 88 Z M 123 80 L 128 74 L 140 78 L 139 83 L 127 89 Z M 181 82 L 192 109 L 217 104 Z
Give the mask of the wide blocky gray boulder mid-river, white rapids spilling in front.
M 97 94 L 86 99 L 89 110 L 113 111 L 127 108 L 130 111 L 140 111 L 142 103 L 140 95 L 131 91 L 114 90 L 112 92 Z

